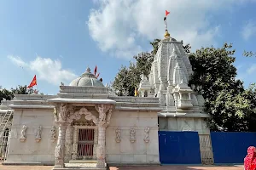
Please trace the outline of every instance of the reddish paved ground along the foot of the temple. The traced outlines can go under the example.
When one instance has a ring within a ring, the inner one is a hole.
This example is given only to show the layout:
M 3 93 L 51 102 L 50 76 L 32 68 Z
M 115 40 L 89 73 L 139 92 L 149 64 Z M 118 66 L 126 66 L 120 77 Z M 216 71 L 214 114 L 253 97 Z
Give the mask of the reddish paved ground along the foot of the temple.
M 0 162 L 0 170 L 51 170 L 52 166 L 3 166 Z M 160 166 L 160 167 L 110 167 L 110 170 L 243 170 L 243 166 L 232 167 L 184 167 L 184 166 Z

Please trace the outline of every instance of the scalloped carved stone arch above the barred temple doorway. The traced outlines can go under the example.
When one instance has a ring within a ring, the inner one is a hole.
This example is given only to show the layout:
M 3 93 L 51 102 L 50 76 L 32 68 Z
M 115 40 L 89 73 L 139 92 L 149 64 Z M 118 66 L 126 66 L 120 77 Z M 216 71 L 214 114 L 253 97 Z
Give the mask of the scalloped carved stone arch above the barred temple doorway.
M 79 111 L 75 111 L 72 115 L 68 116 L 67 122 L 72 123 L 74 120 L 78 121 L 82 115 L 84 115 L 87 121 L 92 121 L 95 124 L 98 123 L 98 118 L 92 115 L 92 113 L 88 111 L 85 107 L 82 107 Z

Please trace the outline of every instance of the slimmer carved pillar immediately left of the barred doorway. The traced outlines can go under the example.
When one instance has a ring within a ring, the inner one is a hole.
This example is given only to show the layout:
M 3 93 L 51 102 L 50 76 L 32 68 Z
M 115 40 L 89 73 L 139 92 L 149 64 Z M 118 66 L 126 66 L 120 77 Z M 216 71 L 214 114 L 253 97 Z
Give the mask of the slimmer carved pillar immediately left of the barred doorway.
M 71 160 L 72 155 L 72 143 L 73 143 L 73 127 L 71 124 L 67 126 L 67 132 L 66 132 L 66 154 L 65 154 L 65 162 L 68 162 Z

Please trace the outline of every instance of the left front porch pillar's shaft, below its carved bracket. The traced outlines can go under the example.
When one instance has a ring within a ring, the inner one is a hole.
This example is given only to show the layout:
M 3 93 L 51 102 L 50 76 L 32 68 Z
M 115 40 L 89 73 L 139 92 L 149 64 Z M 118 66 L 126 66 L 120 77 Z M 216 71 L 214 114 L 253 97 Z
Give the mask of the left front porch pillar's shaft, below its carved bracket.
M 55 167 L 64 167 L 66 129 L 67 123 L 60 122 L 58 141 L 55 147 Z

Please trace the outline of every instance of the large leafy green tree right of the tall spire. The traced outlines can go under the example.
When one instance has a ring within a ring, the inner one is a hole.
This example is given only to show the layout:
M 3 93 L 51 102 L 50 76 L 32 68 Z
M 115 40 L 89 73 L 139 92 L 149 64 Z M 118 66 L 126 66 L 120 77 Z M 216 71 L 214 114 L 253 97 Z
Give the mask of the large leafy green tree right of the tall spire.
M 209 125 L 213 131 L 247 131 L 247 114 L 251 100 L 247 98 L 243 83 L 236 80 L 236 58 L 231 44 L 222 48 L 201 48 L 189 54 L 193 75 L 189 85 L 202 94 L 205 111 L 211 115 Z

